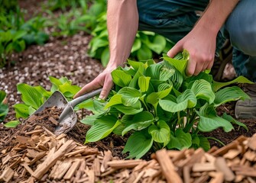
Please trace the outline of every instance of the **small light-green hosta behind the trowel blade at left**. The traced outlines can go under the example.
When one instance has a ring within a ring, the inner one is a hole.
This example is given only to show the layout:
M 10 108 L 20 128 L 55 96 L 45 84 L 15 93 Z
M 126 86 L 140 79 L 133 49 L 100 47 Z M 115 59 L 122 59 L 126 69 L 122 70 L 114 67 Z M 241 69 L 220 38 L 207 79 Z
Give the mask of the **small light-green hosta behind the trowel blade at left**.
M 33 114 L 55 91 L 60 91 L 68 100 L 71 100 L 73 95 L 80 90 L 79 86 L 72 85 L 72 82 L 66 77 L 57 79 L 50 76 L 49 79 L 52 84 L 50 91 L 40 85 L 31 86 L 24 83 L 17 85 L 18 92 L 21 93 L 21 100 L 24 102 L 14 105 L 17 118 L 26 118 Z

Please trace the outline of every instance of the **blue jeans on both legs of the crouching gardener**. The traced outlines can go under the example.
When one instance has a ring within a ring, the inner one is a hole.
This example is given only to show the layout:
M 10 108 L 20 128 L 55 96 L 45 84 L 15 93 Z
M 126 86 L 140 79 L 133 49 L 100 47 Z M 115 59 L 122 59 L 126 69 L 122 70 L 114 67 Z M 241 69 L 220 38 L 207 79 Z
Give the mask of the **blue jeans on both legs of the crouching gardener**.
M 138 0 L 139 30 L 151 30 L 177 42 L 190 32 L 209 0 Z M 233 46 L 238 75 L 256 82 L 256 1 L 241 0 L 219 31 L 216 52 L 225 39 Z

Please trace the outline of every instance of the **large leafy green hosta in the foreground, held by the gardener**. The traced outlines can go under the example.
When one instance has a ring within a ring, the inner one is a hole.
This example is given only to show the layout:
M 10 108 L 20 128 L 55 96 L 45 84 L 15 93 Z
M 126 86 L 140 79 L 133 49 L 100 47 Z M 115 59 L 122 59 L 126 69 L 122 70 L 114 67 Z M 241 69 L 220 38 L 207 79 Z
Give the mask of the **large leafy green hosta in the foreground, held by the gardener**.
M 240 76 L 233 82 L 214 82 L 208 72 L 186 77 L 186 50 L 163 59 L 160 64 L 128 60 L 129 66 L 112 72 L 112 95 L 107 101 L 92 101 L 96 114 L 82 120 L 92 126 L 86 143 L 110 133 L 130 135 L 123 152 L 129 152 L 128 158 L 141 158 L 152 147 L 207 150 L 208 139 L 200 132 L 219 127 L 229 132 L 232 124 L 247 128 L 228 114 L 219 117 L 215 109 L 228 101 L 249 98 L 237 86 L 225 87 L 234 82 L 251 83 L 248 79 Z

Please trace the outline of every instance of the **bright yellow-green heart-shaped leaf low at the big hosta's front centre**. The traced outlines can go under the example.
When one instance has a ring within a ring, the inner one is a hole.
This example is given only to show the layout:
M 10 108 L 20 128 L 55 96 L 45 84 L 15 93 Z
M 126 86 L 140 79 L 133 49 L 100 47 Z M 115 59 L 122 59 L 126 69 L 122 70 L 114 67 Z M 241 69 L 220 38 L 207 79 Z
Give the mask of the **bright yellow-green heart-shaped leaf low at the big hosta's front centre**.
M 151 134 L 154 141 L 164 143 L 164 146 L 167 146 L 170 141 L 170 127 L 164 120 L 159 120 L 157 125 L 152 124 L 148 128 L 148 133 Z

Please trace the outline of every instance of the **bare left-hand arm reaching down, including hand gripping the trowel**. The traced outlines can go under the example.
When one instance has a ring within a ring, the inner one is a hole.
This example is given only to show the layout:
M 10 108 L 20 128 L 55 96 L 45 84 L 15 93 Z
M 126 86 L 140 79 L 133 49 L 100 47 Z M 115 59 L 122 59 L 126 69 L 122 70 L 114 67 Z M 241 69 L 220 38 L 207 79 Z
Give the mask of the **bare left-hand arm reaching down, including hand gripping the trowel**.
M 107 11 L 109 32 L 109 64 L 96 79 L 85 85 L 74 98 L 102 87 L 100 98 L 105 99 L 113 86 L 111 72 L 123 66 L 131 53 L 138 30 L 138 8 L 136 0 L 109 0 Z

